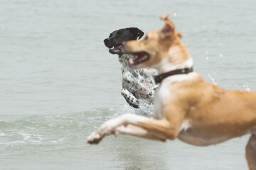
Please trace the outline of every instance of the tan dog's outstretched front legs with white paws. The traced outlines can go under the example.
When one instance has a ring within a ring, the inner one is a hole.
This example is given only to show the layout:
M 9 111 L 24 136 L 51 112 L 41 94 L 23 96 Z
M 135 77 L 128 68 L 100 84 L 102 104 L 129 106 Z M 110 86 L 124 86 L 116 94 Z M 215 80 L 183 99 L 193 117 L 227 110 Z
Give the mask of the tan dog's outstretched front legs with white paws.
M 178 136 L 178 132 L 181 130 L 182 124 L 182 116 L 180 114 L 174 114 L 177 117 L 174 120 L 151 120 L 150 118 L 146 118 L 141 115 L 134 114 L 124 114 L 117 118 L 107 120 L 107 122 L 103 123 L 100 128 L 98 128 L 95 132 L 87 138 L 88 143 L 98 143 L 103 139 L 106 135 L 115 134 L 117 135 L 119 132 L 124 132 L 120 130 L 119 127 L 127 126 L 127 125 L 135 125 L 140 130 L 133 130 L 131 132 L 127 132 L 129 135 L 134 135 L 137 137 L 145 137 L 150 139 L 150 137 L 154 137 L 156 140 L 174 140 Z M 142 129 L 144 131 L 142 131 Z

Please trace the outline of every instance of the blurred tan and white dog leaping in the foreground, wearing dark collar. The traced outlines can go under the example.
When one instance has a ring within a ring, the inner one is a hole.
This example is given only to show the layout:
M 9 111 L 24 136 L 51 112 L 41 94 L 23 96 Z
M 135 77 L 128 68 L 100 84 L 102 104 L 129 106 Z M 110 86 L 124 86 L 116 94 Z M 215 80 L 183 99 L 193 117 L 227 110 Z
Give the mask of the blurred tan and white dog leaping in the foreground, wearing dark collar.
M 160 74 L 157 80 L 163 79 L 156 92 L 154 119 L 121 115 L 102 124 L 87 142 L 127 134 L 160 141 L 178 137 L 191 145 L 206 146 L 250 133 L 246 158 L 250 169 L 256 169 L 256 93 L 226 91 L 191 72 L 193 60 L 181 42 L 181 33 L 167 15 L 161 18 L 166 22 L 164 28 L 125 45 L 127 52 L 137 55 L 131 67 L 155 68 Z

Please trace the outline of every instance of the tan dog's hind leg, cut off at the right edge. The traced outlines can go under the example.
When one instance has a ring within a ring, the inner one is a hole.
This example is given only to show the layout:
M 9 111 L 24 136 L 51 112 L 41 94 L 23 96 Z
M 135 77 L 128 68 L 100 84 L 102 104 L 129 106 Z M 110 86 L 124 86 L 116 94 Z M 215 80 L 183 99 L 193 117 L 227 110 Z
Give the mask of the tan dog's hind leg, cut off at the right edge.
M 256 170 L 256 135 L 250 137 L 246 146 L 246 159 L 250 170 Z

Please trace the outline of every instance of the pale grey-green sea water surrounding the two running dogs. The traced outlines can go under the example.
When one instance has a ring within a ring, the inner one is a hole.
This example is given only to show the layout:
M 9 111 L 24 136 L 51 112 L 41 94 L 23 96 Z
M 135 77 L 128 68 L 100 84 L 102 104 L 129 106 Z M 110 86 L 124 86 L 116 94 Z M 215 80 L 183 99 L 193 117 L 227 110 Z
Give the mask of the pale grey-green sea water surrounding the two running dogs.
M 195 71 L 225 89 L 256 91 L 256 1 L 0 0 L 0 169 L 247 169 L 248 135 L 210 147 L 120 135 L 85 143 L 130 108 L 117 55 L 119 28 L 161 28 L 170 13 Z M 255 103 L 256 104 L 256 103 Z

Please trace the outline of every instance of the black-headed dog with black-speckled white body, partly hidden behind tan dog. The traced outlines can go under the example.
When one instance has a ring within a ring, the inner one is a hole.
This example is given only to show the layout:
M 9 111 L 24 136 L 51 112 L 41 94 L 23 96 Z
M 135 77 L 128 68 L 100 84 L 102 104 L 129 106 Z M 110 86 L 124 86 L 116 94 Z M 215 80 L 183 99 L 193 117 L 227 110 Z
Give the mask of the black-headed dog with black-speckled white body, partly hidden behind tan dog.
M 117 54 L 119 62 L 122 64 L 122 91 L 127 103 L 134 108 L 139 108 L 139 99 L 146 103 L 153 103 L 154 91 L 157 85 L 154 83 L 153 76 L 157 74 L 155 69 L 131 69 L 128 61 L 134 58 L 134 55 L 124 54 L 122 52 L 123 42 L 129 40 L 139 40 L 144 33 L 138 28 L 123 28 L 114 30 L 109 38 L 104 40 L 111 54 Z

